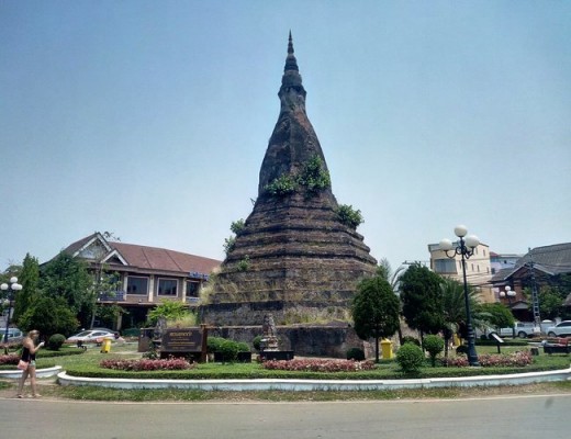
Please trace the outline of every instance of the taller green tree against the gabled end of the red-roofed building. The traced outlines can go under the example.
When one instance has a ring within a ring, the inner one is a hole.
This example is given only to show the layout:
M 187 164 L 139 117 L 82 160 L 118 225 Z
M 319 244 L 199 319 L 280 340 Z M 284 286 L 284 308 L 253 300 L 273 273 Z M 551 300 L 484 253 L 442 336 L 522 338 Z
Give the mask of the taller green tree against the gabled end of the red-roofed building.
M 44 294 L 64 299 L 81 326 L 89 326 L 94 306 L 93 279 L 85 261 L 61 251 L 44 266 L 40 280 Z

